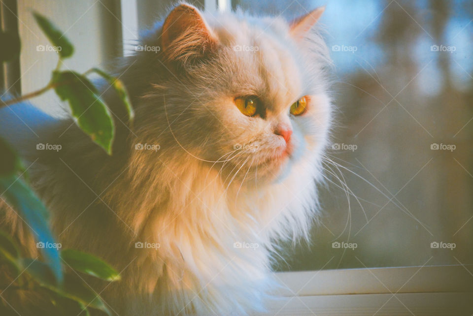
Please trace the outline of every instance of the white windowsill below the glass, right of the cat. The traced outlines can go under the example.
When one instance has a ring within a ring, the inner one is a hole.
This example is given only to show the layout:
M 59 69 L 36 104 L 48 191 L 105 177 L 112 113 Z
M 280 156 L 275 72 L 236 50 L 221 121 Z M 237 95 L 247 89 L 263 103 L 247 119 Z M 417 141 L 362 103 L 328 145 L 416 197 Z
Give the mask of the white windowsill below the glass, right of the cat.
M 469 270 L 467 270 L 469 269 Z M 286 288 L 255 315 L 472 315 L 472 266 L 275 273 Z

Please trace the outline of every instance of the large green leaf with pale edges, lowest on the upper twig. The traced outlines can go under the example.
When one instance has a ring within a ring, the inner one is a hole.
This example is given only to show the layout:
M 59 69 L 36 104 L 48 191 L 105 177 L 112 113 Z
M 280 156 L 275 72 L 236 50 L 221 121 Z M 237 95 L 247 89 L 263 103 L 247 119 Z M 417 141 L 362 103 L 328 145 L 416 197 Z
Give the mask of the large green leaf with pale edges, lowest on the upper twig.
M 69 102 L 77 125 L 111 155 L 115 126 L 94 85 L 74 71 L 54 71 L 52 83 L 56 94 Z

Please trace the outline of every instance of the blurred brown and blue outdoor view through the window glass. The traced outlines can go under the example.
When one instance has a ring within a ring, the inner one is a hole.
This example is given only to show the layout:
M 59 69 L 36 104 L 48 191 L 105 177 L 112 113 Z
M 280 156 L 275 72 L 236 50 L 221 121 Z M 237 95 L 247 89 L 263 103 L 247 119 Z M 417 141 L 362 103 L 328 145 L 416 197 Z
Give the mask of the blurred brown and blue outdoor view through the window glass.
M 234 3 L 287 18 L 321 5 L 338 117 L 328 155 L 339 166 L 326 166 L 311 245 L 285 245 L 276 266 L 472 264 L 473 2 Z

